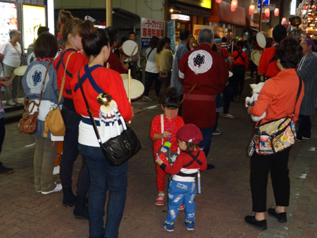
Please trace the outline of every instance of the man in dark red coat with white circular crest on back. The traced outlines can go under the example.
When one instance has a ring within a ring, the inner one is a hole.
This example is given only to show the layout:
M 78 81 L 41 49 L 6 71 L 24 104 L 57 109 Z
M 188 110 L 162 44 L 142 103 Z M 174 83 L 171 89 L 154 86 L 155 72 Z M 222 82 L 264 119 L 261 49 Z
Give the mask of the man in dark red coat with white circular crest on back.
M 199 31 L 198 43 L 196 50 L 187 52 L 179 61 L 178 77 L 184 85 L 182 118 L 185 124 L 194 124 L 201 130 L 204 140 L 199 145 L 204 147 L 207 157 L 216 120 L 215 97 L 226 86 L 229 72 L 223 57 L 211 50 L 214 34 L 210 28 Z M 197 82 L 197 87 L 188 94 Z

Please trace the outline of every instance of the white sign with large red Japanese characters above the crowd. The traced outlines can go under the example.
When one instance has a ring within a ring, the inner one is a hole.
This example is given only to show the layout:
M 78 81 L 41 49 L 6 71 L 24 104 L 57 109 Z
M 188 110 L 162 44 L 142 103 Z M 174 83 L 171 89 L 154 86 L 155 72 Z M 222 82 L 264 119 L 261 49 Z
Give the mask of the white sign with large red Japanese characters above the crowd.
M 162 39 L 165 36 L 165 21 L 156 21 L 152 19 L 141 19 L 141 41 L 142 48 L 149 47 L 149 42 L 153 36 Z

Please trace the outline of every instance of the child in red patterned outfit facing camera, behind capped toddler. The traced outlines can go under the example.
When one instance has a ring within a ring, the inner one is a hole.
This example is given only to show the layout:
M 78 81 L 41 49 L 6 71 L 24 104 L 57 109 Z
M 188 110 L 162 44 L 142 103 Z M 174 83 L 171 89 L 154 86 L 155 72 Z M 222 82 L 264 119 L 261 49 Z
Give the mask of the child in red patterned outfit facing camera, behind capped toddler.
M 155 116 L 151 125 L 151 138 L 154 140 L 153 149 L 155 159 L 160 147 L 165 142 L 171 142 L 171 148 L 169 148 L 171 151 L 175 153 L 179 151 L 176 133 L 179 128 L 184 126 L 184 120 L 177 116 L 180 102 L 175 87 L 164 89 L 160 94 L 160 102 L 164 114 Z M 167 160 L 164 162 L 168 163 Z M 159 194 L 157 195 L 155 204 L 163 206 L 165 201 L 166 173 L 158 165 L 156 165 L 156 171 L 156 185 Z

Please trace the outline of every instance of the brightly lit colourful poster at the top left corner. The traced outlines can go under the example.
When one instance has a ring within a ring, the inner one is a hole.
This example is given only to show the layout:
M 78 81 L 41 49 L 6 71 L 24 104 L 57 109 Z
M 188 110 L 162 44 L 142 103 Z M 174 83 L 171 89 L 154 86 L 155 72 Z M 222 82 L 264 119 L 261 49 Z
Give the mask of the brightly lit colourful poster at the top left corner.
M 0 50 L 1 46 L 10 41 L 10 30 L 17 30 L 17 6 L 14 3 L 0 2 Z

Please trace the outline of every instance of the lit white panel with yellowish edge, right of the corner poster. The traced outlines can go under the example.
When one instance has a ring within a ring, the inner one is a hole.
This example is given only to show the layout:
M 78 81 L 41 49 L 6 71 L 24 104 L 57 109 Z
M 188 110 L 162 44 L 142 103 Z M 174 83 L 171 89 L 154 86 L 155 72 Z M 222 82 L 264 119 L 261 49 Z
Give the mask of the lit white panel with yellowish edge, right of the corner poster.
M 46 26 L 45 6 L 30 6 L 23 4 L 23 40 L 24 49 L 37 39 L 39 27 Z

